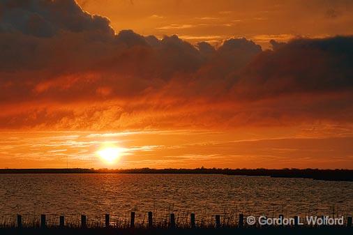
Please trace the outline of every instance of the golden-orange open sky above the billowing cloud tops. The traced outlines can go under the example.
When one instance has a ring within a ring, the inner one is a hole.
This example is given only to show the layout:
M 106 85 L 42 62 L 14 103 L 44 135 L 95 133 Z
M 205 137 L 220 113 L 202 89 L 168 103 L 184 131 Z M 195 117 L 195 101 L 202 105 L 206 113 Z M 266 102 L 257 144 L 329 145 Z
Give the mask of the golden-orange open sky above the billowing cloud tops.
M 116 31 L 142 35 L 177 34 L 192 43 L 220 43 L 246 37 L 269 47 L 269 40 L 353 33 L 350 1 L 320 0 L 79 0 L 89 13 L 104 15 Z

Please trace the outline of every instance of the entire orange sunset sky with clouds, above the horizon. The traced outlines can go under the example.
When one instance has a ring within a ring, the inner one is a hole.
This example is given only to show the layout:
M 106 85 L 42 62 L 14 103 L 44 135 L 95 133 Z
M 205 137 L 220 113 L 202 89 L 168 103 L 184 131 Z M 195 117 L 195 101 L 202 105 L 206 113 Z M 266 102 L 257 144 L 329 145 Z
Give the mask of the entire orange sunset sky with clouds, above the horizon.
M 352 8 L 0 1 L 0 168 L 353 169 Z

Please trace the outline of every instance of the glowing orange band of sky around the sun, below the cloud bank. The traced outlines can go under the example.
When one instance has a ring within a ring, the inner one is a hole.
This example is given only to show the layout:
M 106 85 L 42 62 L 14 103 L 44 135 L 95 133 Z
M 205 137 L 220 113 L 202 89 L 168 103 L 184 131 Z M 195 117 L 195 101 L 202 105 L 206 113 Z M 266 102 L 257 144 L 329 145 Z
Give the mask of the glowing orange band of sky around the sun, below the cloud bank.
M 276 134 L 269 138 L 268 131 L 1 133 L 1 165 L 9 168 L 353 167 L 353 137 L 322 137 L 305 130 L 287 129 L 287 135 L 274 130 Z M 113 162 L 106 162 L 97 154 L 107 144 L 124 149 Z

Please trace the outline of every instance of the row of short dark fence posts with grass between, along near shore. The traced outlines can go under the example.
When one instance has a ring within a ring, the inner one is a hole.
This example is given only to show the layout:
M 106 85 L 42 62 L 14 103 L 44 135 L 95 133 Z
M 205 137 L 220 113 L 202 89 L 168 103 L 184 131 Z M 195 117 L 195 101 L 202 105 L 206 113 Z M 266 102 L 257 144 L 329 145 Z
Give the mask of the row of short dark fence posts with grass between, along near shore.
M 103 221 L 88 220 L 87 215 L 80 215 L 78 218 L 70 218 L 67 220 L 64 215 L 40 215 L 40 217 L 28 218 L 22 215 L 17 215 L 13 220 L 3 220 L 1 228 L 183 228 L 183 229 L 197 229 L 197 228 L 242 228 L 242 227 L 268 227 L 269 225 L 260 225 L 256 220 L 250 221 L 245 218 L 243 214 L 236 215 L 212 215 L 211 218 L 199 217 L 195 213 L 185 216 L 178 216 L 170 213 L 163 219 L 156 219 L 153 213 L 149 211 L 147 217 L 143 216 L 142 219 L 137 220 L 136 213 L 130 212 L 128 218 L 111 218 L 109 213 L 104 215 Z M 146 220 L 147 218 L 147 220 Z M 264 216 L 266 219 L 266 217 Z M 255 218 L 254 218 L 255 219 Z M 279 215 L 278 219 L 284 221 L 283 215 Z M 294 218 L 287 218 L 292 220 L 293 223 L 287 225 L 273 225 L 273 226 L 287 226 L 287 227 L 321 227 L 328 225 L 309 225 L 304 220 L 300 220 L 299 216 Z M 324 220 L 324 217 L 322 217 Z M 250 223 L 251 222 L 251 223 Z M 352 217 L 347 216 L 342 225 L 333 225 L 340 227 L 352 227 Z

